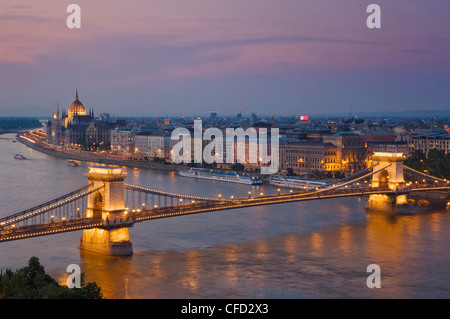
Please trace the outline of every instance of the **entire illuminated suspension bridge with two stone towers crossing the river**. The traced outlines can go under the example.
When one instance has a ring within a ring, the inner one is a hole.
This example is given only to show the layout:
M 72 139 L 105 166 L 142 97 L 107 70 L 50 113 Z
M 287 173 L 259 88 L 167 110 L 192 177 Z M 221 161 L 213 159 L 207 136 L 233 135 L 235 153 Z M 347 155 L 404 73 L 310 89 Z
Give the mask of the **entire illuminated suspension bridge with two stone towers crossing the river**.
M 413 192 L 450 190 L 447 180 L 406 167 L 403 160 L 400 153 L 378 153 L 373 166 L 339 183 L 241 198 L 193 196 L 130 185 L 125 183 L 127 174 L 121 167 L 90 167 L 86 186 L 0 218 L 0 243 L 83 230 L 80 248 L 130 255 L 129 228 L 152 219 L 350 196 L 368 196 L 368 208 L 389 210 L 405 203 Z M 406 183 L 405 174 L 416 181 Z

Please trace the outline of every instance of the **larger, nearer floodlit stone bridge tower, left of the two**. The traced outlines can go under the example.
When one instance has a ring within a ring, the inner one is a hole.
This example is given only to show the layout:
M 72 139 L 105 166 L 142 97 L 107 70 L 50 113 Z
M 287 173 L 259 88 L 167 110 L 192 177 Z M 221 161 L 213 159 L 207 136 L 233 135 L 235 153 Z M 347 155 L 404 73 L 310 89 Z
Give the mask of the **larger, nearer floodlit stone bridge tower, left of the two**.
M 133 254 L 128 228 L 133 225 L 125 209 L 124 180 L 121 167 L 89 167 L 85 174 L 92 188 L 102 186 L 88 196 L 86 217 L 102 221 L 102 227 L 85 229 L 80 248 L 110 256 Z

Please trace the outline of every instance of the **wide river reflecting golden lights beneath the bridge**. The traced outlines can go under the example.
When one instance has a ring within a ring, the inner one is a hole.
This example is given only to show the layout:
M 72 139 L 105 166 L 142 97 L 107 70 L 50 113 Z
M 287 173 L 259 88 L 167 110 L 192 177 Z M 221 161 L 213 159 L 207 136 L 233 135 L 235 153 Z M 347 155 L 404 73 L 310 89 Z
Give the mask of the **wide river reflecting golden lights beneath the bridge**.
M 0 135 L 0 216 L 86 184 L 78 167 Z M 14 154 L 26 160 L 15 160 Z M 270 185 L 201 181 L 174 172 L 126 169 L 127 183 L 230 197 L 275 193 Z M 0 269 L 32 256 L 65 283 L 78 264 L 106 298 L 450 298 L 450 211 L 366 212 L 365 198 L 250 207 L 137 223 L 134 254 L 81 251 L 82 231 L 0 243 Z M 367 266 L 381 270 L 369 289 Z

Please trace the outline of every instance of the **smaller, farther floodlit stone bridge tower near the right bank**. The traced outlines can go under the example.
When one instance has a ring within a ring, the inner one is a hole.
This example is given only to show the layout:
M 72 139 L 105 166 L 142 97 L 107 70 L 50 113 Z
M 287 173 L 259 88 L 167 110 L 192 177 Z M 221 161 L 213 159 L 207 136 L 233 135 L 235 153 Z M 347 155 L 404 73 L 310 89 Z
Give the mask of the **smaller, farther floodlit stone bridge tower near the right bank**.
M 397 190 L 404 186 L 403 153 L 374 152 L 372 188 Z M 378 172 L 377 172 L 378 171 Z M 367 209 L 394 211 L 397 206 L 407 203 L 406 194 L 373 194 L 366 203 Z

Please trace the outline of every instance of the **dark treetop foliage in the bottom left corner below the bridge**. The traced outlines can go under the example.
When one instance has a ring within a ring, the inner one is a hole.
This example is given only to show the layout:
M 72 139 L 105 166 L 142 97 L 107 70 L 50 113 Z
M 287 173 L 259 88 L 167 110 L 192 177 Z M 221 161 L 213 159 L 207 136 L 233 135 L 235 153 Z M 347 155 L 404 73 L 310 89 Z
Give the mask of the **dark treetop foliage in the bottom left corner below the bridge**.
M 95 282 L 81 288 L 59 285 L 45 273 L 39 258 L 31 257 L 28 266 L 16 271 L 6 270 L 0 275 L 0 296 L 2 299 L 102 299 L 100 287 Z

